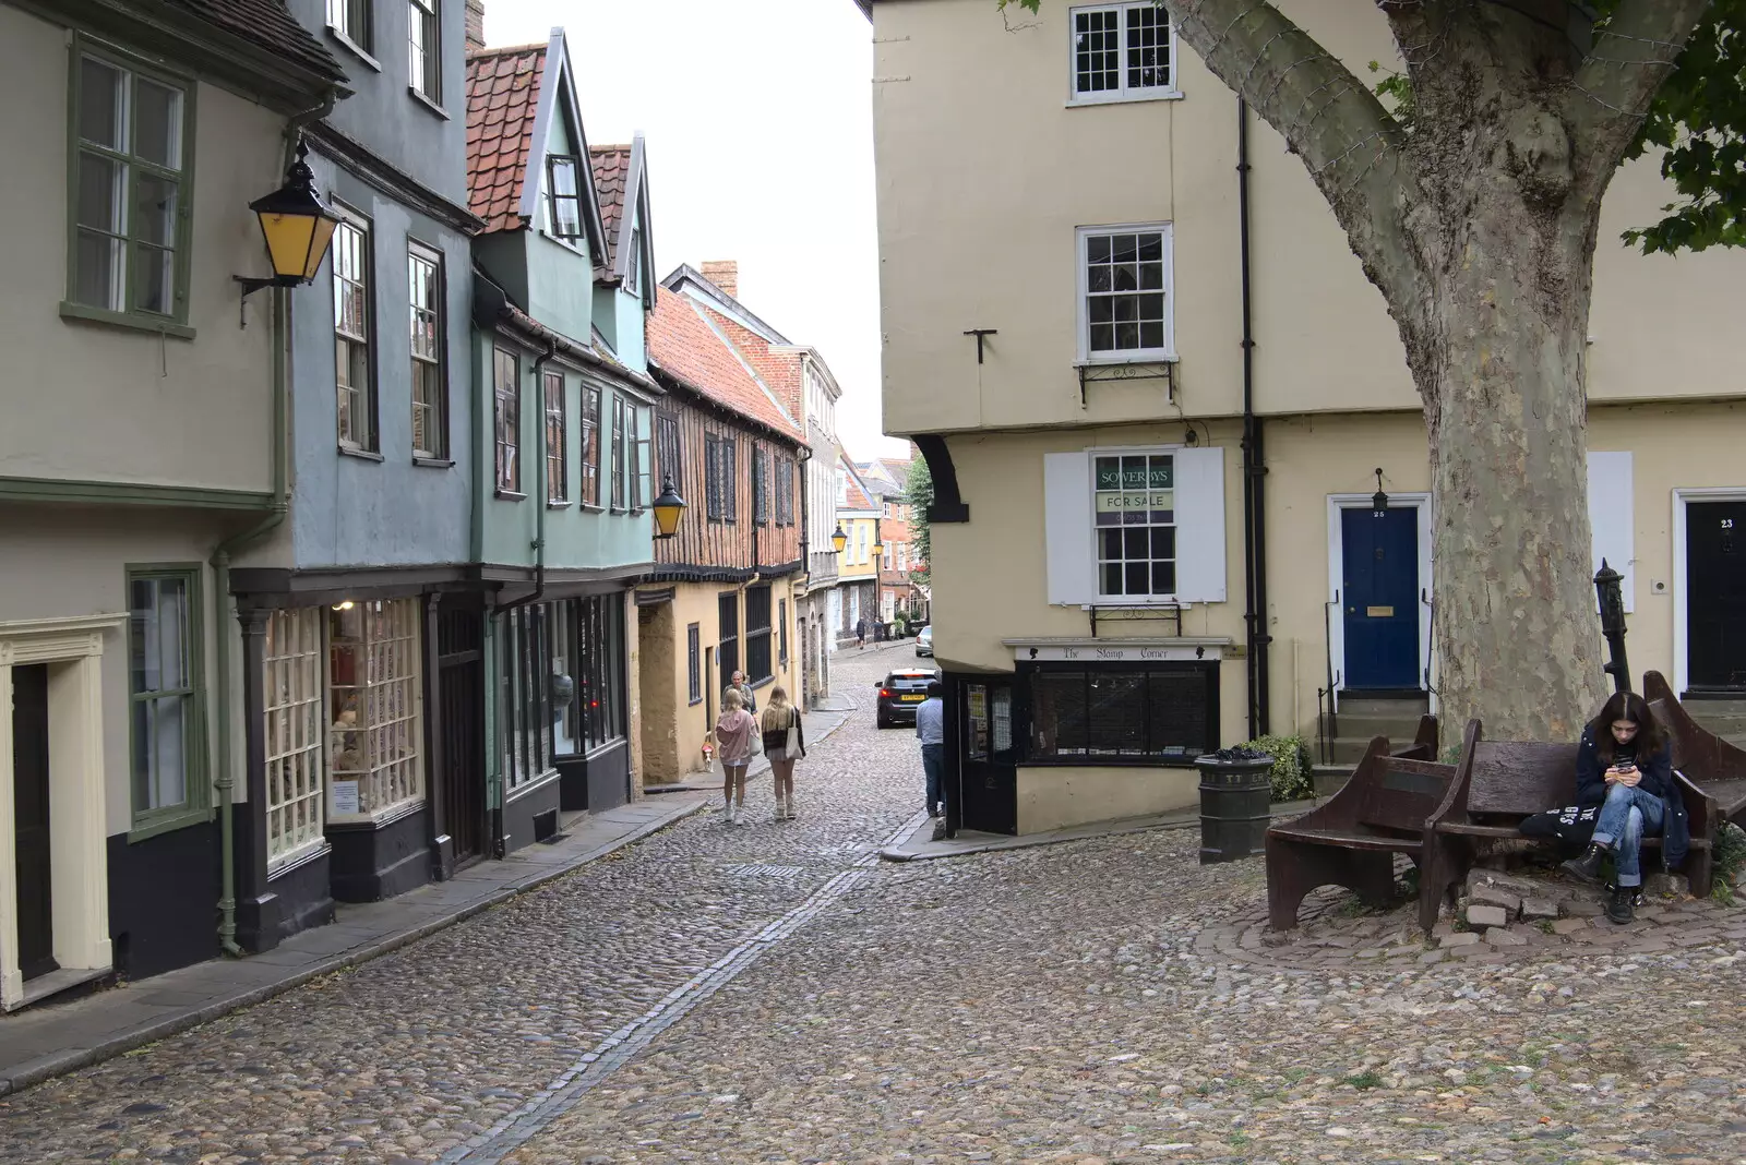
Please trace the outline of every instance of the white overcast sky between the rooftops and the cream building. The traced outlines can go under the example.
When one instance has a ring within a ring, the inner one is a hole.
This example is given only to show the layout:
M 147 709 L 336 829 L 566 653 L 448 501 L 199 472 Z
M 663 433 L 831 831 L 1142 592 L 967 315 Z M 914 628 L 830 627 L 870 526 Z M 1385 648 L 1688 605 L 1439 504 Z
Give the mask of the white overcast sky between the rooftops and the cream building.
M 732 258 L 739 298 L 817 347 L 856 459 L 880 436 L 873 28 L 854 0 L 485 0 L 492 47 L 569 40 L 590 145 L 648 140 L 655 260 Z

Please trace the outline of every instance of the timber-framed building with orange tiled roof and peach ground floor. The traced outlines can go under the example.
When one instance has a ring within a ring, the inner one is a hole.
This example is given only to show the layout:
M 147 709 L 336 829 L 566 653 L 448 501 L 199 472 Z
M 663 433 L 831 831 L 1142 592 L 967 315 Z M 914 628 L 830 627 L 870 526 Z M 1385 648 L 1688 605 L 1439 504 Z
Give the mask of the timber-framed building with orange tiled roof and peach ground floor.
M 801 691 L 807 434 L 718 314 L 669 286 L 648 326 L 650 368 L 667 391 L 655 412 L 655 467 L 686 509 L 676 535 L 655 542 L 655 567 L 636 593 L 646 783 L 709 767 L 705 736 L 733 671 L 760 705 L 775 685 L 791 698 Z

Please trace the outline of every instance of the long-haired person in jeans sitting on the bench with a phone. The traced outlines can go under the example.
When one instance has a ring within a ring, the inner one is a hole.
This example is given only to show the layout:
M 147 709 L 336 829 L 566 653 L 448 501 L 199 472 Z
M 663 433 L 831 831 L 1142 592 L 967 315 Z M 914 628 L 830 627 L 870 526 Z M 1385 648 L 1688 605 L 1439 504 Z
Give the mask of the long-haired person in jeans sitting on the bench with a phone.
M 1685 858 L 1690 839 L 1685 802 L 1673 780 L 1673 741 L 1636 692 L 1613 692 L 1601 715 L 1582 729 L 1577 804 L 1599 806 L 1601 813 L 1589 848 L 1566 862 L 1564 870 L 1599 882 L 1601 862 L 1612 855 L 1613 896 L 1606 917 L 1626 924 L 1643 888 L 1643 834 L 1662 835 L 1667 869 Z

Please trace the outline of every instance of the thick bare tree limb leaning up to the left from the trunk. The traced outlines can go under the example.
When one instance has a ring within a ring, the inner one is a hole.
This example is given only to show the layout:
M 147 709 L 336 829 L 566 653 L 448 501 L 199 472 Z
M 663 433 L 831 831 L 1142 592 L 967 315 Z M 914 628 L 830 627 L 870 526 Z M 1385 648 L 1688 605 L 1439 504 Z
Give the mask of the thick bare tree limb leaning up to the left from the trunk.
M 1273 126 L 1393 305 L 1421 298 L 1407 246 L 1402 129 L 1371 87 L 1268 0 L 1163 0 L 1177 35 Z

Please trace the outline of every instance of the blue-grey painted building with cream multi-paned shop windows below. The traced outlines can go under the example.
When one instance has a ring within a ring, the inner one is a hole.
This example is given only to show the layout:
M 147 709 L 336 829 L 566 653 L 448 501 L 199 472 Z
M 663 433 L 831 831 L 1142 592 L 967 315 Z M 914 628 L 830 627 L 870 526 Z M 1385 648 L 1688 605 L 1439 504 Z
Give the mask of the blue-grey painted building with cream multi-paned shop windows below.
M 288 3 L 354 94 L 306 133 L 342 221 L 290 296 L 288 516 L 230 574 L 250 776 L 237 933 L 255 950 L 484 851 L 447 825 L 468 818 L 482 759 L 468 12 Z

